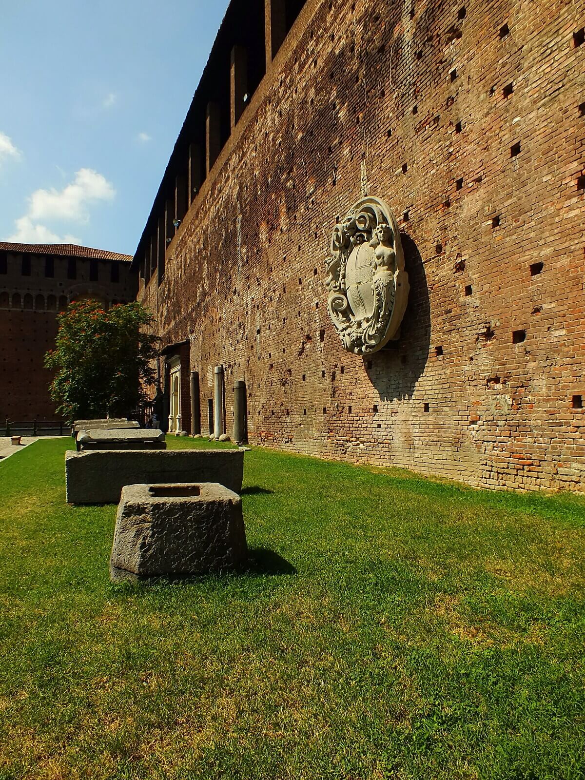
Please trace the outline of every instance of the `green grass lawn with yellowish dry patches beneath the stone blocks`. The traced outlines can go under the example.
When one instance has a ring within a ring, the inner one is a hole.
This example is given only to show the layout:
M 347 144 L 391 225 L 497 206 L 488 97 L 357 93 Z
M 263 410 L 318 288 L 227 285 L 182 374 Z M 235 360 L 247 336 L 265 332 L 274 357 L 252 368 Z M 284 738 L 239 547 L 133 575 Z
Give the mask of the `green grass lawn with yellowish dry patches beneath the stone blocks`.
M 585 778 L 583 498 L 253 449 L 248 573 L 112 585 L 70 445 L 0 463 L 1 780 Z

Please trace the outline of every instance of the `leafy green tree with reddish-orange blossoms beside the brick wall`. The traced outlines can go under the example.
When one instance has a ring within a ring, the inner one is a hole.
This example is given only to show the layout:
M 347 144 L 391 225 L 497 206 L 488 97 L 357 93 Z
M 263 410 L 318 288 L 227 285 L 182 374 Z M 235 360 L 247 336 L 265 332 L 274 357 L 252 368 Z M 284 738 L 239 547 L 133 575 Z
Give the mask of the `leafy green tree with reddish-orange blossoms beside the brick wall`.
M 141 303 L 105 311 L 94 300 L 70 303 L 59 314 L 55 349 L 44 364 L 55 371 L 51 399 L 66 420 L 126 415 L 147 400 L 154 384 L 154 318 Z

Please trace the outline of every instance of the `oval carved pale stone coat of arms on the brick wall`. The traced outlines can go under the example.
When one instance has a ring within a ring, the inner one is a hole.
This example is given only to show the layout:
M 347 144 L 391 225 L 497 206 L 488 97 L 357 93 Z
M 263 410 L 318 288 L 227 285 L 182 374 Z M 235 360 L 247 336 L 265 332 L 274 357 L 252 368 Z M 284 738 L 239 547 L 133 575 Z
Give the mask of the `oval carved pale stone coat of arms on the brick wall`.
M 384 200 L 358 200 L 335 225 L 331 252 L 325 287 L 335 330 L 349 352 L 378 352 L 398 338 L 410 289 L 398 225 Z

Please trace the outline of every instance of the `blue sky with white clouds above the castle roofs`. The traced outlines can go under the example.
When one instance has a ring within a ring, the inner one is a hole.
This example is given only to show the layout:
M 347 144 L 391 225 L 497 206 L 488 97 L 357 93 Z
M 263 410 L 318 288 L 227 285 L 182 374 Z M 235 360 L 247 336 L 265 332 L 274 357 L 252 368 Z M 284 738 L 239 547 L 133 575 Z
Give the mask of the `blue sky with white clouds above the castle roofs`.
M 0 240 L 133 254 L 228 0 L 0 0 Z

